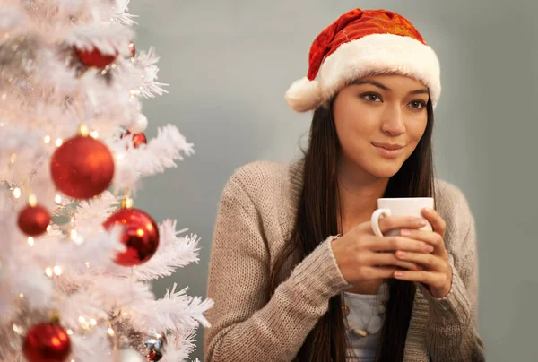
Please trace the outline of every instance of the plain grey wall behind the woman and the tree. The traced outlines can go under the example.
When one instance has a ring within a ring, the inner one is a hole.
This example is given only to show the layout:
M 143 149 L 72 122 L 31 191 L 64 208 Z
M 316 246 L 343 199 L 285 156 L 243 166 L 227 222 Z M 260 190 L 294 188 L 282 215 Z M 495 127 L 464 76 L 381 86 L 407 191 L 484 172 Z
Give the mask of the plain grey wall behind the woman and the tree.
M 487 359 L 536 360 L 537 2 L 134 0 L 136 46 L 157 48 L 160 80 L 170 84 L 144 103 L 147 134 L 173 123 L 196 150 L 137 197 L 156 220 L 178 219 L 202 237 L 200 263 L 156 282 L 157 295 L 174 281 L 205 295 L 223 185 L 249 161 L 299 156 L 309 116 L 293 114 L 284 91 L 306 74 L 317 33 L 354 7 L 403 14 L 437 51 L 437 173 L 463 189 L 476 217 Z M 197 339 L 193 358 L 203 358 L 203 331 Z

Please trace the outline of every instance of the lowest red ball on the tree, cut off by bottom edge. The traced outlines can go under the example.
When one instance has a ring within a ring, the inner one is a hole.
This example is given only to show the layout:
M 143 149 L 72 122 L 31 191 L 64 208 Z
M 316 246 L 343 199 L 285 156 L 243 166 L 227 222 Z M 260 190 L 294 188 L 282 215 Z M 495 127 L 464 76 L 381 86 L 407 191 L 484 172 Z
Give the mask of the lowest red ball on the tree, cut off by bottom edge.
M 39 323 L 30 328 L 22 342 L 28 362 L 64 362 L 71 353 L 71 340 L 58 323 Z

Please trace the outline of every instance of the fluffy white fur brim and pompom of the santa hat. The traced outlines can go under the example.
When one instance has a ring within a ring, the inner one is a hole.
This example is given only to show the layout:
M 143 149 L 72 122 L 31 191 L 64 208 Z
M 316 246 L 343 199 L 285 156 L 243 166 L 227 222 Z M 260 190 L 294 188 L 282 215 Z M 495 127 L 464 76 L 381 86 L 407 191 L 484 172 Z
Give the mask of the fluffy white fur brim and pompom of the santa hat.
M 288 103 L 294 110 L 306 112 L 326 104 L 346 83 L 384 73 L 402 74 L 422 82 L 430 90 L 433 107 L 437 105 L 441 94 L 437 55 L 419 40 L 394 34 L 372 34 L 342 44 L 321 65 L 317 84 L 321 95 L 314 94 L 308 82 L 297 81 L 288 90 L 293 89 L 295 94 Z

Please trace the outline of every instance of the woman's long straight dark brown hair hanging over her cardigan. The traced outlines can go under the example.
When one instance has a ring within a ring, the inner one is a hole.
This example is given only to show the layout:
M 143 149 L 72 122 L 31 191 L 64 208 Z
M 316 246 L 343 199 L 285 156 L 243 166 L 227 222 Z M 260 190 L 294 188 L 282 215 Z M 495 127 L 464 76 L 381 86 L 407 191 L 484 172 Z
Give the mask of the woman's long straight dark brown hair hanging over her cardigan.
M 290 275 L 291 269 L 310 254 L 328 236 L 341 232 L 338 227 L 338 184 L 336 160 L 340 142 L 329 108 L 314 112 L 308 148 L 304 152 L 303 188 L 299 197 L 295 226 L 291 237 L 271 271 L 272 292 Z M 432 197 L 434 194 L 431 133 L 433 108 L 427 104 L 428 125 L 415 151 L 388 182 L 385 197 Z M 411 282 L 391 280 L 386 306 L 386 322 L 377 361 L 399 362 L 412 313 L 415 286 Z M 300 362 L 343 362 L 348 340 L 343 321 L 340 295 L 329 300 L 325 315 L 304 341 L 297 358 Z

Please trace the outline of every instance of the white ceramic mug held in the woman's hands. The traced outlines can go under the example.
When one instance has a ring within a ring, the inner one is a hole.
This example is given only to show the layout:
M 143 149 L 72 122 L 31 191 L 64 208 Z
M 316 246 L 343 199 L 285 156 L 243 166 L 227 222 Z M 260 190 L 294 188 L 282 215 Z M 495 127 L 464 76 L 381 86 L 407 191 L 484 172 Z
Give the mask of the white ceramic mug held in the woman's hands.
M 390 215 L 410 215 L 418 218 L 422 216 L 424 208 L 433 209 L 433 197 L 400 197 L 377 199 L 377 210 L 372 214 L 372 229 L 377 237 L 383 237 L 379 229 L 379 219 Z M 430 223 L 421 230 L 432 230 Z M 395 236 L 400 234 L 400 229 L 390 230 L 385 236 Z

